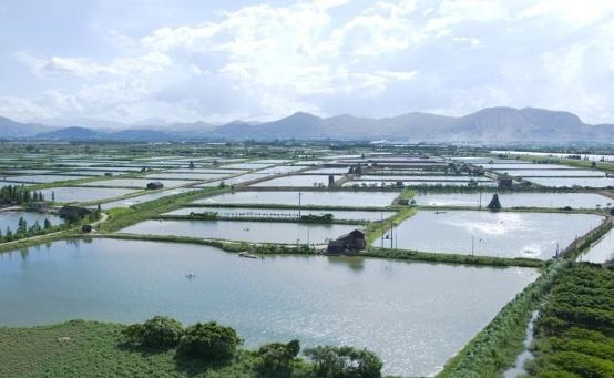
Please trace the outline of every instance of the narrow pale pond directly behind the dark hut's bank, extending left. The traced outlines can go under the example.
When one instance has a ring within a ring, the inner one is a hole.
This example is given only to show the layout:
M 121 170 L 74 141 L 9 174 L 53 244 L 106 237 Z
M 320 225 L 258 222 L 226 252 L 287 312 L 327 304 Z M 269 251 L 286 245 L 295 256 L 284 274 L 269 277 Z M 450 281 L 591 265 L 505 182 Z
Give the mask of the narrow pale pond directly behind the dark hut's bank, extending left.
M 121 233 L 176 235 L 250 243 L 324 244 L 356 229 L 356 225 L 241 222 L 241 221 L 145 221 Z

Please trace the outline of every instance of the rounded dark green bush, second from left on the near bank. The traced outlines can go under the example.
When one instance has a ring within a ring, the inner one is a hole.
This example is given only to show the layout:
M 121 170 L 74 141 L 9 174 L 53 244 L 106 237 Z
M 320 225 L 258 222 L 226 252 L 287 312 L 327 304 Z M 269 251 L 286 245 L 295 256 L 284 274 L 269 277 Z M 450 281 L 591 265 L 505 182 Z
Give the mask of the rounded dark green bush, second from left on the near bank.
M 196 323 L 185 330 L 177 354 L 185 357 L 223 361 L 232 358 L 242 340 L 229 327 L 212 323 Z

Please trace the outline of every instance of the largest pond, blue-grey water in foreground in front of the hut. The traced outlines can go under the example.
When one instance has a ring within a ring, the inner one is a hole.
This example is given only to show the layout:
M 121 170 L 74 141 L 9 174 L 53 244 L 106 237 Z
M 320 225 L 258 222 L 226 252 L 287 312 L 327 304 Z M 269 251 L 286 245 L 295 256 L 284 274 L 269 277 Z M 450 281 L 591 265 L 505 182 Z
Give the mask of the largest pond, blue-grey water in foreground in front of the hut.
M 186 244 L 54 242 L 0 254 L 0 325 L 134 323 L 163 314 L 229 325 L 248 347 L 294 338 L 305 347 L 367 347 L 387 374 L 432 376 L 536 275 L 358 257 L 249 259 Z

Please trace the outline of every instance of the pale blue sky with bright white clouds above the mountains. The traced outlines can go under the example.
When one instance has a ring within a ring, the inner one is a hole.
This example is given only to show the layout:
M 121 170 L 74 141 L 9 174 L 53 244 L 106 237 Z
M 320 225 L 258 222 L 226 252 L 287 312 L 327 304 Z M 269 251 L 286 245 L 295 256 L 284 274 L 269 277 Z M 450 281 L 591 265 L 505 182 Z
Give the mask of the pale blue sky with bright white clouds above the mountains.
M 487 106 L 614 123 L 614 1 L 0 0 L 0 115 L 21 122 Z

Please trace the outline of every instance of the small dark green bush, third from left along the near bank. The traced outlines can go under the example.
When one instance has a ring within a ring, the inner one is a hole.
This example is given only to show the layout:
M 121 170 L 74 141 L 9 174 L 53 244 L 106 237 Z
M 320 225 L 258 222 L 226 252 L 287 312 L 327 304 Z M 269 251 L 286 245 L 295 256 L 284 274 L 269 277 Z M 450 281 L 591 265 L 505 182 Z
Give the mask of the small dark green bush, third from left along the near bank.
M 254 367 L 262 377 L 289 377 L 294 368 L 294 359 L 300 351 L 298 340 L 288 344 L 273 343 L 263 345 L 255 351 Z

